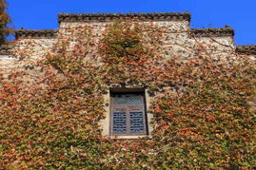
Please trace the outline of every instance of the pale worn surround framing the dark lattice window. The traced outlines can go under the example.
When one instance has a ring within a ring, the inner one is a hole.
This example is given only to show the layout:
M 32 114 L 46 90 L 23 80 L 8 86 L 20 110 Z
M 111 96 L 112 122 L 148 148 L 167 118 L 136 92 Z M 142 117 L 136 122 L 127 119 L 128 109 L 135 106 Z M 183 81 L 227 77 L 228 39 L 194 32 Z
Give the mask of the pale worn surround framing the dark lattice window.
M 134 88 L 126 88 L 127 90 L 133 90 Z M 125 92 L 126 89 L 122 89 L 122 92 Z M 137 88 L 138 89 L 138 88 Z M 153 116 L 151 113 L 148 112 L 148 108 L 150 106 L 151 97 L 149 97 L 148 89 L 145 89 L 145 100 L 146 100 L 146 114 L 148 117 L 148 135 L 143 136 L 110 136 L 110 90 L 108 93 L 104 95 L 104 102 L 105 102 L 105 119 L 100 122 L 100 126 L 102 128 L 102 135 L 108 138 L 113 139 L 138 139 L 143 137 L 151 138 L 152 136 L 152 125 L 150 124 Z

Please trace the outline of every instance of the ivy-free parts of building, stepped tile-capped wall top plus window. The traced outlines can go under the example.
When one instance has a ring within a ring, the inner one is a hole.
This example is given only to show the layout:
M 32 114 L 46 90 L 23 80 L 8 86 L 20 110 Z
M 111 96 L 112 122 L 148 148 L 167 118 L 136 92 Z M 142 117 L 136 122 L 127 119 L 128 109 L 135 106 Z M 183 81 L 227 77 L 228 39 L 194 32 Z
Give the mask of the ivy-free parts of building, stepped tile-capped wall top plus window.
M 173 56 L 186 60 L 197 55 L 198 48 L 214 58 L 226 55 L 246 55 L 255 60 L 256 46 L 236 46 L 234 30 L 225 28 L 190 28 L 189 13 L 60 13 L 59 28 L 44 30 L 17 29 L 12 46 L 0 47 L 0 69 L 8 74 L 11 70 L 27 69 L 43 59 L 60 38 L 69 37 L 81 27 L 89 27 L 95 42 L 101 41 L 109 23 L 116 20 L 138 20 L 150 23 L 163 31 L 161 57 Z M 75 43 L 75 39 L 73 40 Z M 97 46 L 91 46 L 89 56 L 97 53 Z M 27 51 L 27 52 L 26 52 Z M 31 68 L 32 69 L 32 68 Z M 148 89 L 140 85 L 112 85 L 105 95 L 106 119 L 102 121 L 104 136 L 138 138 L 151 136 L 148 122 L 150 97 Z M 251 103 L 255 110 L 255 104 Z

